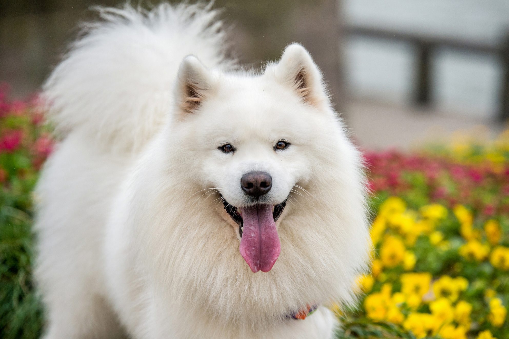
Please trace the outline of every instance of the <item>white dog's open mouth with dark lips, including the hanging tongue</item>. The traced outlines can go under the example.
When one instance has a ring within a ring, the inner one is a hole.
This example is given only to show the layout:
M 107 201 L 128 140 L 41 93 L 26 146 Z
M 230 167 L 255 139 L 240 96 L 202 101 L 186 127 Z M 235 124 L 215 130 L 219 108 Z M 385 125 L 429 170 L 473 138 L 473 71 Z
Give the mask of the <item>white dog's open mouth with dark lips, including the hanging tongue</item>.
M 276 205 L 246 207 L 232 206 L 223 196 L 221 199 L 224 210 L 239 225 L 240 254 L 251 271 L 270 271 L 281 251 L 276 221 L 285 209 L 287 199 Z

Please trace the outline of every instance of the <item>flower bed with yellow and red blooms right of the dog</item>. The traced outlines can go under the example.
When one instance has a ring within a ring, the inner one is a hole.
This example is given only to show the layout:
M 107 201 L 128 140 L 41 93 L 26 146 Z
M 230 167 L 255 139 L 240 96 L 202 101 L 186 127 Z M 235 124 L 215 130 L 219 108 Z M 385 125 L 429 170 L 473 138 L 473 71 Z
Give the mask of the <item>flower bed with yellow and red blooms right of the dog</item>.
M 509 133 L 365 157 L 373 264 L 340 335 L 509 338 Z

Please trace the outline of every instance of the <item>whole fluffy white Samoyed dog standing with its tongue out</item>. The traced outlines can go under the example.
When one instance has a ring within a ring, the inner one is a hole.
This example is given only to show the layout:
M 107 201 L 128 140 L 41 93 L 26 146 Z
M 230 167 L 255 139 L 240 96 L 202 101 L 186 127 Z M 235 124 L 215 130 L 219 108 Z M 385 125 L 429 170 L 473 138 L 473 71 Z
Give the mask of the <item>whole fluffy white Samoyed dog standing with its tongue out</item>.
M 44 87 L 45 337 L 334 337 L 370 257 L 365 179 L 307 51 L 246 71 L 210 6 L 100 14 Z

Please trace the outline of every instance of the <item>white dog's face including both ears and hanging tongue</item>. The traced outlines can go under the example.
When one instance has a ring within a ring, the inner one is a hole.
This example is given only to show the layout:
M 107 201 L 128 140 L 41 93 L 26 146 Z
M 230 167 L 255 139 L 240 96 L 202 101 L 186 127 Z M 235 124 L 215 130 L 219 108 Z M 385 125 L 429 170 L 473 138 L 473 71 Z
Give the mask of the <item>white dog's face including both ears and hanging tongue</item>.
M 276 221 L 327 147 L 320 131 L 331 113 L 319 70 L 300 45 L 258 76 L 208 70 L 187 57 L 177 98 L 175 123 L 200 168 L 196 180 L 218 195 L 251 270 L 268 272 L 280 252 Z

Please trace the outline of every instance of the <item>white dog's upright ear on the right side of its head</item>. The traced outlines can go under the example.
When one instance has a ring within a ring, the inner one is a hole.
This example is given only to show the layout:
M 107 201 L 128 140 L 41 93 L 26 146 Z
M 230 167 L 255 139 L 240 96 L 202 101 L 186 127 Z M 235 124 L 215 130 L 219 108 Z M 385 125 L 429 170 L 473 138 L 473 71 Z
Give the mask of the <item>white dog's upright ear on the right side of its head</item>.
M 294 89 L 311 105 L 327 101 L 322 74 L 302 45 L 297 43 L 288 45 L 281 60 L 274 65 L 274 72 L 280 82 Z

